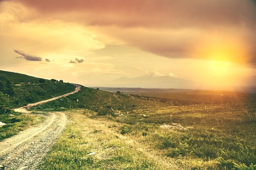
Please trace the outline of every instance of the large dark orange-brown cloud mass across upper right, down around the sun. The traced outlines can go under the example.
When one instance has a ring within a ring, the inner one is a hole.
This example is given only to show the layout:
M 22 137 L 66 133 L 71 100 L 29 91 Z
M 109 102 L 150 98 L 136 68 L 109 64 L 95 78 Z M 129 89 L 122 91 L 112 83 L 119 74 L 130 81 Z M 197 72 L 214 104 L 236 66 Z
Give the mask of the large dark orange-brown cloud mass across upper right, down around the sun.
M 215 31 L 220 41 L 235 37 L 238 42 L 244 42 L 248 49 L 245 49 L 247 55 L 243 57 L 256 66 L 255 0 L 16 1 L 37 9 L 43 17 L 61 16 L 61 20 L 96 25 L 103 28 L 102 32 L 131 46 L 170 58 L 207 59 L 204 55 L 192 54 L 191 49 L 200 39 Z M 63 17 L 70 12 L 77 15 Z M 112 28 L 108 30 L 108 26 L 115 26 L 119 31 L 113 31 Z M 140 28 L 148 32 L 138 32 Z M 153 33 L 154 30 L 157 33 Z M 234 57 L 232 61 L 238 60 Z

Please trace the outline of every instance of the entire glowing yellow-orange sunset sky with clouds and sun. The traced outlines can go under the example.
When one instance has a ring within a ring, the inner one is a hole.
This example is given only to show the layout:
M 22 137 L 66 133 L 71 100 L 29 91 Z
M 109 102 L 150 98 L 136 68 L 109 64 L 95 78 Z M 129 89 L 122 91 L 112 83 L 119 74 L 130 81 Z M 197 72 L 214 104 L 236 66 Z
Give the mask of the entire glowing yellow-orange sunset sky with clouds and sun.
M 151 71 L 255 85 L 254 0 L 0 0 L 0 70 L 99 86 Z

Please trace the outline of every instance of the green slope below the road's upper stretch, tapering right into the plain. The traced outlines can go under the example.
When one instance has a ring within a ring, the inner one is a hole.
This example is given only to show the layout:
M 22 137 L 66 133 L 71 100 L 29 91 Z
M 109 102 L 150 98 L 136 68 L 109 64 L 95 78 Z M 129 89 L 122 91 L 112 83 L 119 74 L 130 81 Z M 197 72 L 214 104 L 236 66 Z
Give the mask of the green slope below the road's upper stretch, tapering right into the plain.
M 133 95 L 117 94 L 82 86 L 81 91 L 36 106 L 34 110 L 59 110 L 63 108 L 87 108 L 99 114 L 112 113 L 113 110 L 131 110 L 134 108 L 158 107 L 164 104 L 157 99 L 138 98 Z M 112 109 L 111 109 L 112 108 Z

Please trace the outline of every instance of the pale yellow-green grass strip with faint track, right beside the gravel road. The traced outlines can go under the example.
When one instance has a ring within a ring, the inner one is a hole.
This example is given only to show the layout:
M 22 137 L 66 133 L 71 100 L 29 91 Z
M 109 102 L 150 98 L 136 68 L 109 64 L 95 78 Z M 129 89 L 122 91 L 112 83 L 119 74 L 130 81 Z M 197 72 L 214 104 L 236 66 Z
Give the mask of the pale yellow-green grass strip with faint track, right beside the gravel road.
M 75 123 L 67 126 L 51 152 L 43 159 L 40 170 L 162 169 L 156 161 L 124 143 L 118 138 L 118 133 L 108 131 L 104 124 L 100 126 L 102 122 L 88 121 L 85 124 L 86 114 L 91 114 L 91 111 L 81 113 L 72 110 L 66 113 Z M 70 138 L 72 134 L 76 138 Z

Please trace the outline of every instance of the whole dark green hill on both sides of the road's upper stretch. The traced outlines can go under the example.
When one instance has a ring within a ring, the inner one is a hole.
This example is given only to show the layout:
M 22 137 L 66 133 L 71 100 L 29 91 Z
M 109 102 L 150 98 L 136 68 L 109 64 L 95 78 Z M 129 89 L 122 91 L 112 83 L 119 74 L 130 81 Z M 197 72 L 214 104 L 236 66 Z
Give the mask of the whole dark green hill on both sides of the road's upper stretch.
M 50 99 L 74 91 L 75 86 L 69 83 L 53 82 L 19 73 L 0 71 L 0 105 L 18 108 L 29 103 Z M 60 110 L 59 108 L 87 108 L 96 112 L 111 112 L 111 110 L 126 110 L 148 106 L 162 106 L 157 99 L 117 94 L 82 86 L 81 91 L 63 97 L 32 109 Z M 112 108 L 112 109 L 111 109 Z

